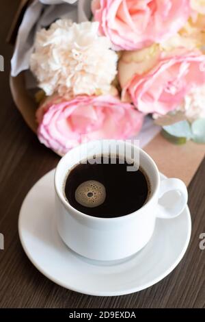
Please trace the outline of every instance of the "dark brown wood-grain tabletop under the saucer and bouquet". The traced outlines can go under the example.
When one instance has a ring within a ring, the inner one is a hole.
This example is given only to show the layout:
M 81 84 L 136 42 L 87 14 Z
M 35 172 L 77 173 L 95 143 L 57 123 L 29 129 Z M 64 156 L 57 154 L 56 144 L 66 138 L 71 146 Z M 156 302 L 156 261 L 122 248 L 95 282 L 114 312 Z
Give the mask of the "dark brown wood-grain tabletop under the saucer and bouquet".
M 205 161 L 189 186 L 193 230 L 184 258 L 164 280 L 132 295 L 92 297 L 57 286 L 29 262 L 18 238 L 20 205 L 29 188 L 53 169 L 59 157 L 40 145 L 16 110 L 8 84 L 12 47 L 5 38 L 18 1 L 1 1 L 0 54 L 5 71 L 0 73 L 0 232 L 5 249 L 0 251 L 1 308 L 205 308 L 205 250 L 199 236 L 205 232 Z

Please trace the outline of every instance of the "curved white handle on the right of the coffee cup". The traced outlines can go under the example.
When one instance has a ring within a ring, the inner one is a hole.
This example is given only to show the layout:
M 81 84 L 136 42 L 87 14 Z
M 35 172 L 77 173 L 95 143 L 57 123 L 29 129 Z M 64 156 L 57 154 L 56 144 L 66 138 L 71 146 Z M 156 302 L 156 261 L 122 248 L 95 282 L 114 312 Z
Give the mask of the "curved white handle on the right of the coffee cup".
M 163 195 L 169 191 L 177 191 L 180 197 L 172 207 L 165 207 L 158 203 L 156 210 L 156 217 L 163 219 L 172 219 L 178 216 L 187 205 L 188 193 L 187 187 L 180 179 L 169 178 L 161 181 L 161 187 L 159 192 L 159 199 L 163 198 Z

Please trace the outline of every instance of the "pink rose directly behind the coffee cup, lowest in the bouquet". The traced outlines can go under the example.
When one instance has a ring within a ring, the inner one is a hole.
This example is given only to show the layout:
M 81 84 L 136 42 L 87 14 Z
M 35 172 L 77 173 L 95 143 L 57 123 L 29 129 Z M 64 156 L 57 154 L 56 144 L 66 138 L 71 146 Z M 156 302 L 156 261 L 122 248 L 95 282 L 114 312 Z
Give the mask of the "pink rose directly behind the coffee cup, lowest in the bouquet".
M 78 96 L 70 101 L 53 97 L 40 106 L 37 120 L 40 142 L 63 155 L 81 143 L 82 134 L 86 140 L 134 136 L 143 114 L 111 96 Z

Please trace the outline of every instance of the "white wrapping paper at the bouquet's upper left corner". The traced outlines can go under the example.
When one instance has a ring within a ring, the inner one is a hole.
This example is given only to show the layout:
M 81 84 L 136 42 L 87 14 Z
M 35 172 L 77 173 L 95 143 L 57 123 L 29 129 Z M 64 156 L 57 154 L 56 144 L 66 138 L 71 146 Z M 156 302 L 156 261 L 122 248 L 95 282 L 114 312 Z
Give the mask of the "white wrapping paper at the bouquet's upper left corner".
M 11 61 L 11 74 L 16 77 L 29 69 L 29 57 L 33 51 L 36 32 L 53 23 L 57 18 L 68 17 L 78 20 L 77 0 L 34 0 L 27 8 L 18 29 L 16 46 Z

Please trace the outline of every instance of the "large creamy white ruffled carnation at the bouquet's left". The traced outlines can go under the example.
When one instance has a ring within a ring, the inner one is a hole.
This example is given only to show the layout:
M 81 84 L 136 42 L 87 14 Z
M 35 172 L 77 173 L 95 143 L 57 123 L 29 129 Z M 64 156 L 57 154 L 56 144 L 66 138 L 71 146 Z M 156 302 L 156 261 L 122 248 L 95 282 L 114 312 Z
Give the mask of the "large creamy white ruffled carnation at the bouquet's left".
M 105 94 L 117 73 L 118 55 L 98 36 L 98 23 L 59 19 L 36 34 L 31 71 L 46 95 Z

